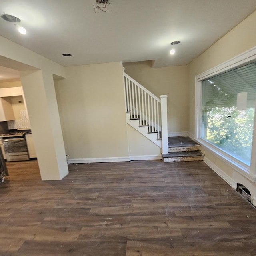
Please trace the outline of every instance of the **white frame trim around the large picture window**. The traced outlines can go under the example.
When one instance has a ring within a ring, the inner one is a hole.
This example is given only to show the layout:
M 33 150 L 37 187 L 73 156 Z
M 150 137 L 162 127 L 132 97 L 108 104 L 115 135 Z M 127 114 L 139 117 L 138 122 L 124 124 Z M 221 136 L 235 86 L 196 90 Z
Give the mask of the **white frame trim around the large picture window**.
M 253 130 L 253 139 L 252 139 L 252 156 L 250 166 L 242 163 L 236 158 L 230 156 L 224 151 L 220 150 L 213 144 L 208 141 L 200 138 L 201 129 L 202 129 L 202 81 L 216 76 L 228 70 L 233 70 L 239 66 L 244 66 L 250 62 L 256 61 L 256 47 L 239 54 L 238 56 L 223 62 L 222 64 L 211 68 L 195 77 L 195 139 L 202 145 L 205 146 L 212 154 L 226 162 L 229 166 L 234 168 L 240 174 L 256 182 L 256 111 L 254 115 L 254 130 Z

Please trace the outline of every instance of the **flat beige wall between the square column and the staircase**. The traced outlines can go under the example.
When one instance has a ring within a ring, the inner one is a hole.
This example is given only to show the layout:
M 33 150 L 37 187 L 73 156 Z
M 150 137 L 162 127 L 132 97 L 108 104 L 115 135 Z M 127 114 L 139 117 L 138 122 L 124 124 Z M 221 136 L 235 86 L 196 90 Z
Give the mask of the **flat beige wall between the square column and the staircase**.
M 128 158 L 122 63 L 65 69 L 55 84 L 69 158 Z

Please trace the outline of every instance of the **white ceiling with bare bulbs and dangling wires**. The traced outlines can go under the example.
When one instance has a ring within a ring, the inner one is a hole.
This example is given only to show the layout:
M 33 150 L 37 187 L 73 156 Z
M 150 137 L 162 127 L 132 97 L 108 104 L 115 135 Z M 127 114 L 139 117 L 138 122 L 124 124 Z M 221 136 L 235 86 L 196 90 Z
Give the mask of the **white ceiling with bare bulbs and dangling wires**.
M 110 11 L 97 14 L 95 1 L 1 0 L 0 14 L 20 18 L 27 34 L 0 18 L 0 35 L 63 66 L 142 60 L 176 66 L 256 10 L 255 0 L 110 0 Z M 181 43 L 171 56 L 176 40 Z

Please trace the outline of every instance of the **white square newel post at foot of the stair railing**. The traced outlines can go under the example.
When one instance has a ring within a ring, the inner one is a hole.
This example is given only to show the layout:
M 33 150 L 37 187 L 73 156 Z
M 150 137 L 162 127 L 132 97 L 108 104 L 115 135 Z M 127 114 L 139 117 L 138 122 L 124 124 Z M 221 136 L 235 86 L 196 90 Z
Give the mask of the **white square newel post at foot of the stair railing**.
M 168 153 L 167 95 L 161 95 L 162 154 Z

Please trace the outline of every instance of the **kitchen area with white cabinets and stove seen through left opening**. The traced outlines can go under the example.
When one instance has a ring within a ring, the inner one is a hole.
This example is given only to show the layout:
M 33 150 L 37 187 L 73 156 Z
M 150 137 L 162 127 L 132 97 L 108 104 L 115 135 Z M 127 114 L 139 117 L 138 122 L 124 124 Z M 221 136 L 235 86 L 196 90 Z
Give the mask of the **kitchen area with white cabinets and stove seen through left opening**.
M 36 158 L 22 86 L 15 86 L 19 83 L 0 83 L 14 86 L 0 88 L 0 147 L 6 162 Z

